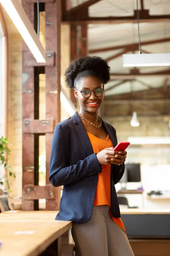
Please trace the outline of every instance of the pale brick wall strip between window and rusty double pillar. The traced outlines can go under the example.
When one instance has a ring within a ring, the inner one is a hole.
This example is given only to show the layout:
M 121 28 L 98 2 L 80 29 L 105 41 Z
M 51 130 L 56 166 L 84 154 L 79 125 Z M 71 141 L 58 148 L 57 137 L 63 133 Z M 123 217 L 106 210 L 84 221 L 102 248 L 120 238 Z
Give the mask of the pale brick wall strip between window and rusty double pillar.
M 16 180 L 11 183 L 13 196 L 22 195 L 22 38 L 8 35 L 8 138 L 10 163 Z

